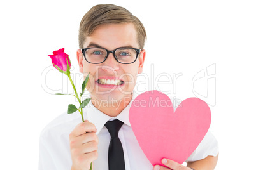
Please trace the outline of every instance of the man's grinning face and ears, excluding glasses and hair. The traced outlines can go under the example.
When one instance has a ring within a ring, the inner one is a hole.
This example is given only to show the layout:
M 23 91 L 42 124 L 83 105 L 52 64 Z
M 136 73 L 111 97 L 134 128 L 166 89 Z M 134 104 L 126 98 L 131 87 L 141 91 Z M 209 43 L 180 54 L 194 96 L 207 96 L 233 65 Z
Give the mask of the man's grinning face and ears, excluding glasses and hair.
M 132 23 L 100 25 L 86 38 L 83 48 L 90 47 L 102 47 L 110 51 L 120 47 L 139 48 L 137 32 Z M 99 64 L 88 63 L 81 50 L 77 51 L 77 58 L 80 72 L 84 76 L 90 72 L 87 90 L 92 95 L 92 100 L 120 101 L 125 98 L 131 99 L 136 74 L 141 73 L 143 69 L 145 50 L 141 51 L 136 62 L 131 64 L 118 63 L 113 53 L 110 53 L 108 58 Z M 113 84 L 112 80 L 117 84 Z

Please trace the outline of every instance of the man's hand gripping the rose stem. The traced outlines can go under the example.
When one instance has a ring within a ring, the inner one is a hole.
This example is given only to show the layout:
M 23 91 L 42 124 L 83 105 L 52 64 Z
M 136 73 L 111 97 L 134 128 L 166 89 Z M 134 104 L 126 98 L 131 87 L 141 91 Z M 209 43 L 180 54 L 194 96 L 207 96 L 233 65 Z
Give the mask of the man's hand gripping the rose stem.
M 86 120 L 69 134 L 72 170 L 89 170 L 90 163 L 97 159 L 96 131 L 94 124 Z

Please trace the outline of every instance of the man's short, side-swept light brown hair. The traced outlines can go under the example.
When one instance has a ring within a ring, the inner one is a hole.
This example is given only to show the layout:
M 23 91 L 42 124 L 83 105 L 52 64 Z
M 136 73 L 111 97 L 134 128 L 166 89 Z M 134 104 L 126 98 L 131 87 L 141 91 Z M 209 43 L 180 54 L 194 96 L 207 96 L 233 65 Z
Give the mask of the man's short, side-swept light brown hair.
M 94 30 L 102 24 L 107 23 L 133 23 L 137 32 L 139 48 L 143 49 L 146 41 L 146 30 L 143 24 L 136 16 L 133 16 L 128 10 L 114 4 L 99 4 L 93 6 L 83 16 L 79 29 L 79 48 L 83 48 L 85 39 L 90 36 Z

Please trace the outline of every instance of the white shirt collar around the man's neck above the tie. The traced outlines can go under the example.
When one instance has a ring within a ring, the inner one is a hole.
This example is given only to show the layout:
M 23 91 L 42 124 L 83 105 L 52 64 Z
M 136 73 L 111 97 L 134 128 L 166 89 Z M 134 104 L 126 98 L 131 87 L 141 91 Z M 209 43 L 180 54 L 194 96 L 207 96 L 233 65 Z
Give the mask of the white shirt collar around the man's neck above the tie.
M 87 118 L 89 122 L 92 122 L 96 126 L 96 129 L 97 129 L 96 134 L 99 134 L 99 132 L 101 131 L 103 126 L 106 124 L 106 122 L 114 119 L 118 119 L 124 122 L 124 124 L 127 124 L 128 126 L 131 127 L 131 123 L 129 121 L 129 110 L 130 110 L 132 101 L 136 98 L 136 96 L 138 96 L 135 93 L 132 93 L 132 94 L 133 94 L 132 100 L 130 101 L 130 103 L 116 117 L 110 117 L 104 114 L 103 112 L 99 111 L 96 107 L 94 107 L 94 105 L 92 105 L 92 101 L 90 101 L 90 103 L 86 107 L 86 113 L 87 113 Z

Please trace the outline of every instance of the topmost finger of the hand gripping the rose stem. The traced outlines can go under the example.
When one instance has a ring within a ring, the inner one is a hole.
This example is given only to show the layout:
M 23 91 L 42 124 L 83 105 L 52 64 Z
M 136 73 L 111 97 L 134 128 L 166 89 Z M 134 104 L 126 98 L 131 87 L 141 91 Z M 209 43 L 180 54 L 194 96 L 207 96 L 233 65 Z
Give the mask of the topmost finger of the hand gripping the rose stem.
M 80 136 L 82 134 L 85 134 L 87 132 L 94 132 L 96 133 L 97 129 L 94 124 L 90 122 L 82 122 L 78 124 L 75 129 L 70 133 L 70 137 L 72 136 Z

